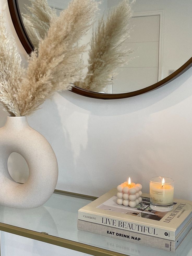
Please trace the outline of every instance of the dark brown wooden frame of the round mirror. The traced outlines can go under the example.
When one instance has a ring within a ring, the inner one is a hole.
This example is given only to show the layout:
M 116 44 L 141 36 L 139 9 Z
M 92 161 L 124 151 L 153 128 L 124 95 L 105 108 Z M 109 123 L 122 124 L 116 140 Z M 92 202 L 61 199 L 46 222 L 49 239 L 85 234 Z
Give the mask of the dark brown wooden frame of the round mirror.
M 15 27 L 15 31 L 24 47 L 26 52 L 28 54 L 31 53 L 33 50 L 33 44 L 28 37 L 28 34 L 26 32 L 25 26 L 23 25 L 21 13 L 19 10 L 19 5 L 18 5 L 18 0 L 7 0 L 8 6 L 9 6 L 9 11 L 11 15 L 11 19 L 13 22 L 13 25 Z M 158 87 L 161 87 L 163 85 L 168 84 L 175 78 L 177 78 L 179 75 L 183 74 L 187 69 L 189 69 L 192 66 L 192 57 L 185 62 L 180 68 L 178 68 L 175 72 L 173 72 L 171 75 L 167 76 L 163 80 L 150 85 L 148 87 L 142 88 L 140 90 L 134 91 L 134 92 L 127 92 L 127 93 L 118 93 L 118 94 L 108 94 L 108 93 L 97 93 L 97 92 L 91 92 L 84 90 L 79 87 L 73 87 L 72 92 L 90 97 L 90 98 L 96 98 L 96 99 L 122 99 L 122 98 L 129 98 L 133 97 L 139 94 L 143 94 L 149 91 L 152 91 Z

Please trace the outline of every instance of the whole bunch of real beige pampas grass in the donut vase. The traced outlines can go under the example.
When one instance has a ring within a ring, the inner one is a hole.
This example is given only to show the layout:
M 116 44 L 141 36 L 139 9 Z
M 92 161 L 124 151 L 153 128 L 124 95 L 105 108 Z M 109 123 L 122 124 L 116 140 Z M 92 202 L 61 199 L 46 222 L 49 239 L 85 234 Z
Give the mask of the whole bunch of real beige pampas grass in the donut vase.
M 59 17 L 53 16 L 38 54 L 31 53 L 25 71 L 15 46 L 9 43 L 1 14 L 0 100 L 11 115 L 31 115 L 55 91 L 68 90 L 81 78 L 85 66 L 80 56 L 86 46 L 76 45 L 92 26 L 97 8 L 94 0 L 73 0 Z

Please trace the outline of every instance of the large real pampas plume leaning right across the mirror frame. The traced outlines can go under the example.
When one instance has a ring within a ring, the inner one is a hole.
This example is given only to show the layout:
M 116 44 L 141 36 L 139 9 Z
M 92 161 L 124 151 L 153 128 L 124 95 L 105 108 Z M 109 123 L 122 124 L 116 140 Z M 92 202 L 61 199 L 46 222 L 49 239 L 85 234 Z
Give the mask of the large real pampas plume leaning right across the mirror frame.
M 79 81 L 85 67 L 80 55 L 85 46 L 78 40 L 91 28 L 98 3 L 94 0 L 73 0 L 59 17 L 53 17 L 38 54 L 29 57 L 26 76 L 17 102 L 21 116 L 31 115 L 56 90 L 67 90 Z

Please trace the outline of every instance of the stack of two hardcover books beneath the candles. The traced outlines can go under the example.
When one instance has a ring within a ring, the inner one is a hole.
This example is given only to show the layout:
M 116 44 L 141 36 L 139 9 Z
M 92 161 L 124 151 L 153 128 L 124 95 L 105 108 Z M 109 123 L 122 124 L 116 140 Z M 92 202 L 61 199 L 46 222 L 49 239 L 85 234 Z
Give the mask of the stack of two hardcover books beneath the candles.
M 148 194 L 135 208 L 117 204 L 114 188 L 78 211 L 77 228 L 175 252 L 192 228 L 192 202 L 175 199 L 173 210 L 153 211 Z

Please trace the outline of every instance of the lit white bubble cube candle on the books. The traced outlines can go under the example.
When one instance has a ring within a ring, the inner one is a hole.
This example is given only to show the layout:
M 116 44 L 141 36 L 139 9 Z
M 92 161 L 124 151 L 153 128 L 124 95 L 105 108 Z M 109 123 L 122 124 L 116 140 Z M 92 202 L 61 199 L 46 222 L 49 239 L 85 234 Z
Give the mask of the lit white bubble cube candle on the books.
M 142 201 L 141 189 L 142 185 L 139 183 L 135 184 L 134 182 L 131 182 L 129 177 L 128 181 L 125 181 L 124 183 L 121 183 L 119 186 L 117 186 L 117 204 L 135 207 Z

